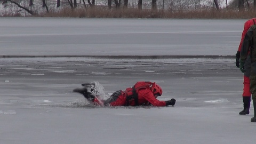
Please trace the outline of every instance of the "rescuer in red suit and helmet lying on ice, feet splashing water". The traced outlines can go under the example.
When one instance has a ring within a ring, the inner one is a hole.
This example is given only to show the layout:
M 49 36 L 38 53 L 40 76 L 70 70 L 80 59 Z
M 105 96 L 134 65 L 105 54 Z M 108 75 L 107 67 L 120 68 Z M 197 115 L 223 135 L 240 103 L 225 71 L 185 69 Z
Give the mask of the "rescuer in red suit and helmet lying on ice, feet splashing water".
M 86 84 L 82 84 L 86 85 Z M 155 82 L 137 82 L 134 86 L 128 87 L 125 91 L 114 92 L 110 98 L 100 100 L 97 95 L 88 90 L 87 87 L 74 89 L 73 92 L 81 93 L 84 97 L 97 106 L 174 106 L 175 99 L 159 101 L 156 98 L 161 96 L 162 88 Z

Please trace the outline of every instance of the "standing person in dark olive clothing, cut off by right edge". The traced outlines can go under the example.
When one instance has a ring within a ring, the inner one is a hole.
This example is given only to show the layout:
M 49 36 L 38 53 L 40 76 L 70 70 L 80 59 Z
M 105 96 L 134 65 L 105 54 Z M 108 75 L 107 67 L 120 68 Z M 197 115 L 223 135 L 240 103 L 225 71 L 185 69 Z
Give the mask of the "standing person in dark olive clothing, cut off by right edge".
M 248 53 L 250 54 L 248 55 Z M 242 73 L 246 72 L 245 61 L 247 57 L 251 58 L 250 92 L 252 93 L 254 116 L 251 122 L 256 122 L 256 25 L 252 25 L 245 34 L 241 47 L 239 68 Z

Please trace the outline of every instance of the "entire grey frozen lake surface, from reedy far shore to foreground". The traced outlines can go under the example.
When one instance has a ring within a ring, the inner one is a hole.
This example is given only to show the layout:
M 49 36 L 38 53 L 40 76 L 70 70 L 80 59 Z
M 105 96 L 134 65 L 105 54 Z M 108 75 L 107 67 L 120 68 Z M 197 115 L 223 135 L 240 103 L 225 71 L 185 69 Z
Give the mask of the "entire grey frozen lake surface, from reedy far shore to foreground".
M 254 143 L 235 58 L 210 57 L 235 55 L 245 21 L 0 18 L 0 143 Z M 99 82 L 108 96 L 137 81 L 177 103 L 97 108 L 71 92 Z

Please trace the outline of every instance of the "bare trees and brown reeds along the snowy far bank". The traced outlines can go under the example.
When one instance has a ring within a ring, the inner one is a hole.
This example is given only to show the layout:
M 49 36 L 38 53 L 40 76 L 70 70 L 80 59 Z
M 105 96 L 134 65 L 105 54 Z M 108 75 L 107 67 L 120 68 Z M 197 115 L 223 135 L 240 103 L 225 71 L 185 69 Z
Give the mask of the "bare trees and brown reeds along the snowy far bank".
M 256 0 L 0 0 L 0 16 L 173 18 L 177 13 L 253 12 Z M 221 6 L 220 6 L 221 5 Z M 227 12 L 229 11 L 229 12 Z M 114 14 L 113 14 L 114 13 Z M 135 15 L 134 15 L 135 14 Z M 137 16 L 136 16 L 137 15 Z M 161 16 L 162 15 L 162 16 Z M 169 16 L 168 16 L 169 15 Z M 182 14 L 181 14 L 182 15 Z M 210 15 L 210 16 L 211 16 Z M 239 14 L 238 14 L 239 15 Z M 191 16 L 190 16 L 191 17 Z M 206 16 L 204 16 L 206 17 Z M 212 17 L 212 16 L 211 16 Z M 240 17 L 240 16 L 238 16 Z M 183 16 L 182 16 L 183 18 Z M 185 17 L 188 18 L 188 17 Z

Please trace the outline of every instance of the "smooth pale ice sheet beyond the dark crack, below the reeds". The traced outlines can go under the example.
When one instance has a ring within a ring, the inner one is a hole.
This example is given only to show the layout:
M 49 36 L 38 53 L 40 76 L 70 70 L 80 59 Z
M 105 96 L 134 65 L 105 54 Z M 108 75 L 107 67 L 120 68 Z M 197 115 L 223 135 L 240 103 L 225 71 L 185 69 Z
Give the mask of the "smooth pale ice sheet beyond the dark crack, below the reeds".
M 0 18 L 0 55 L 234 55 L 245 21 Z

